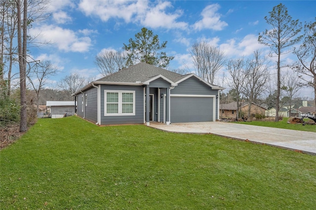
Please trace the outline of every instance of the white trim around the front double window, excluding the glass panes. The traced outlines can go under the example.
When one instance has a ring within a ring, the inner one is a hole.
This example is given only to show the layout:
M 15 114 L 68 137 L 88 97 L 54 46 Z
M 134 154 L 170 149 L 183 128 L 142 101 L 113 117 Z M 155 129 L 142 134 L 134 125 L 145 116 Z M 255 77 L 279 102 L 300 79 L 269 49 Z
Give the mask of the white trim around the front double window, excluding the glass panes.
M 107 93 L 118 93 L 118 113 L 107 114 Z M 122 113 L 122 93 L 133 93 L 133 113 Z M 104 90 L 104 116 L 135 116 L 135 90 Z

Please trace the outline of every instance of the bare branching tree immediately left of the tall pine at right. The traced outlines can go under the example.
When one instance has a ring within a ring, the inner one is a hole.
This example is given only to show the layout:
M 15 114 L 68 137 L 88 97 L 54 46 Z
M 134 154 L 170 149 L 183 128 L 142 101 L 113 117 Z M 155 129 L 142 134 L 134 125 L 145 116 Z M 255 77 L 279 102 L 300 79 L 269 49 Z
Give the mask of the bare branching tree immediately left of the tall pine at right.
M 248 59 L 245 65 L 245 86 L 244 95 L 248 99 L 247 118 L 250 119 L 251 104 L 259 98 L 265 91 L 265 86 L 270 79 L 266 59 L 262 57 L 262 52 L 255 51 L 253 58 Z

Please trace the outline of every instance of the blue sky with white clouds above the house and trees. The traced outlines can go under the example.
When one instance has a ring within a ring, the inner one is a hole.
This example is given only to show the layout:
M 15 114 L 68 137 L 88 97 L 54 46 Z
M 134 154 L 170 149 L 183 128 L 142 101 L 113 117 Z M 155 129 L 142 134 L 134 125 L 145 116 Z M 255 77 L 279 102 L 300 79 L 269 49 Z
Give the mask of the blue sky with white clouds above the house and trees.
M 98 79 L 95 56 L 103 50 L 121 50 L 146 27 L 168 42 L 164 51 L 175 57 L 171 68 L 186 66 L 194 72 L 189 49 L 202 40 L 219 47 L 229 59 L 250 56 L 255 50 L 267 54 L 269 48 L 258 43 L 258 33 L 269 29 L 264 17 L 280 2 L 293 19 L 315 21 L 316 1 L 52 0 L 49 19 L 30 30 L 51 44 L 31 48 L 30 54 L 58 67 L 58 74 L 50 78 L 53 85 L 72 72 Z M 295 57 L 283 59 L 291 62 Z M 302 90 L 301 96 L 312 97 L 312 89 Z

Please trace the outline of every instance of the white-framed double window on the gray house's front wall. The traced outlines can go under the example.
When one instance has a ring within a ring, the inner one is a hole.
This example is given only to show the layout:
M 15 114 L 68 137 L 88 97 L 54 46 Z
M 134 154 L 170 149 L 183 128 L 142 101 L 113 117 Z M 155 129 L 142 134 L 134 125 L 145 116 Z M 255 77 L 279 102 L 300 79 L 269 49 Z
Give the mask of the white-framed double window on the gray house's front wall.
M 104 90 L 104 116 L 135 115 L 134 90 Z

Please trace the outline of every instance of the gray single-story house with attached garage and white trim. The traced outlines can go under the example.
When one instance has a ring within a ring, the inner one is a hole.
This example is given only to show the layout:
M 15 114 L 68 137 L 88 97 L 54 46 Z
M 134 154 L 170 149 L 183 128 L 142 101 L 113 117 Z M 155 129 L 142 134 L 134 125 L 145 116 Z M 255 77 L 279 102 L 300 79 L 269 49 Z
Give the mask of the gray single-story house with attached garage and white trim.
M 78 116 L 98 125 L 151 121 L 215 121 L 219 90 L 196 74 L 181 75 L 140 62 L 73 93 Z

